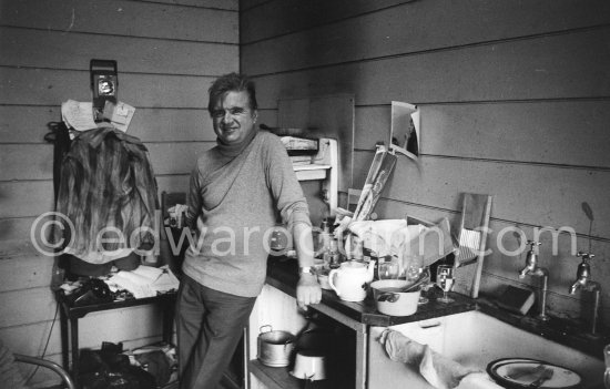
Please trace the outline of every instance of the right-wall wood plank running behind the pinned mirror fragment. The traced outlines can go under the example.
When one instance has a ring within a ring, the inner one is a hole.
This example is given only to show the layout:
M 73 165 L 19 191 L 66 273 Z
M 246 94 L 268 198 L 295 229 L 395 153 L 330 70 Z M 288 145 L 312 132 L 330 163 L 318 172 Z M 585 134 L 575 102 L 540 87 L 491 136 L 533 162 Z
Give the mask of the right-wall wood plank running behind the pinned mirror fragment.
M 420 105 L 423 154 L 609 168 L 610 101 Z M 390 108 L 356 109 L 356 149 L 388 143 Z M 552 136 L 549 136 L 552 134 Z

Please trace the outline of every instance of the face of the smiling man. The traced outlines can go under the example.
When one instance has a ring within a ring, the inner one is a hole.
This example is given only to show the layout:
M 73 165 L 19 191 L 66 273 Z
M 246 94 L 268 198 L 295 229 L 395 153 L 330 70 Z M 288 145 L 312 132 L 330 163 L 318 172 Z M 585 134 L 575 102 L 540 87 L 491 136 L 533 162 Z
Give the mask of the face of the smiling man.
M 210 114 L 218 139 L 225 144 L 236 144 L 254 131 L 257 112 L 250 109 L 247 92 L 231 91 L 216 102 Z

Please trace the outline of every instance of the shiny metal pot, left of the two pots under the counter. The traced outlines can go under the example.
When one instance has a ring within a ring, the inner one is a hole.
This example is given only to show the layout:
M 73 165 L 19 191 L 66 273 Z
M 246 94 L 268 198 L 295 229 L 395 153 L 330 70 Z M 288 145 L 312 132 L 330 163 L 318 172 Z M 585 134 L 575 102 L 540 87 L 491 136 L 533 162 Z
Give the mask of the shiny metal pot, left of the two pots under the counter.
M 284 367 L 291 362 L 296 337 L 288 331 L 273 330 L 272 326 L 265 325 L 260 329 L 258 360 L 270 367 Z

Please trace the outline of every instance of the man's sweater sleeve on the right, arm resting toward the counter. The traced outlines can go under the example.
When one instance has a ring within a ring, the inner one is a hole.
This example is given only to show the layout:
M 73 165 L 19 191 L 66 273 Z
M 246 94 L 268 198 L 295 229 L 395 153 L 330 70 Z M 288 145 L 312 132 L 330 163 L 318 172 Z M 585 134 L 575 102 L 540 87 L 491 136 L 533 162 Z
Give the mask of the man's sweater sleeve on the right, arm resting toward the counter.
M 296 178 L 286 149 L 276 135 L 268 134 L 265 140 L 265 171 L 267 186 L 275 199 L 282 222 L 292 231 L 295 224 L 312 225 L 309 208 Z

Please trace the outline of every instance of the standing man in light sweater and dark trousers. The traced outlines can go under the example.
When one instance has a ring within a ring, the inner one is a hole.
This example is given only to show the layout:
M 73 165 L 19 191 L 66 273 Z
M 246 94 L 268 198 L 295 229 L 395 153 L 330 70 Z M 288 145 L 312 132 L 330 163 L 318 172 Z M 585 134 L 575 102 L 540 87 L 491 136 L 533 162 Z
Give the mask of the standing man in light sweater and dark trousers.
M 299 306 L 317 304 L 312 224 L 301 185 L 277 139 L 255 129 L 254 84 L 231 73 L 210 88 L 217 145 L 191 174 L 186 223 L 197 244 L 186 250 L 177 299 L 182 389 L 215 388 L 228 366 L 266 276 L 270 232 L 279 215 L 292 232 L 301 277 Z

